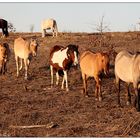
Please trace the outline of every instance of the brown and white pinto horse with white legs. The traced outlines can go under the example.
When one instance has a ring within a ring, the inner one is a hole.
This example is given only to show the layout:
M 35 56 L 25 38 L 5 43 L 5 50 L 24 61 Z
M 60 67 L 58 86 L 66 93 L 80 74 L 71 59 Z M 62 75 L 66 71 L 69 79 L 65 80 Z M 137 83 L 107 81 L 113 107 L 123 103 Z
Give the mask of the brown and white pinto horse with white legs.
M 50 50 L 50 69 L 51 69 L 51 87 L 53 86 L 53 71 L 56 71 L 56 85 L 59 83 L 59 75 L 63 76 L 61 89 L 64 89 L 64 82 L 66 82 L 66 91 L 68 88 L 67 71 L 70 69 L 72 64 L 78 64 L 78 46 L 68 45 L 54 46 Z

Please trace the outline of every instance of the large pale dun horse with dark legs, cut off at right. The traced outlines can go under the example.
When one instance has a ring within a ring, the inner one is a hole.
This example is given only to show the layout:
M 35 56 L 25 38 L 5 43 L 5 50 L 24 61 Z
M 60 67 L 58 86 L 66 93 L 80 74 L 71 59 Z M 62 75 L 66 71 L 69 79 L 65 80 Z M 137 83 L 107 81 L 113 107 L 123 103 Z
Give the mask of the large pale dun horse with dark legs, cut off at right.
M 131 54 L 124 50 L 117 54 L 115 59 L 115 77 L 118 84 L 118 104 L 120 104 L 120 79 L 128 84 L 127 88 L 127 105 L 131 103 L 129 85 L 133 83 L 135 90 L 134 106 L 140 111 L 140 53 Z

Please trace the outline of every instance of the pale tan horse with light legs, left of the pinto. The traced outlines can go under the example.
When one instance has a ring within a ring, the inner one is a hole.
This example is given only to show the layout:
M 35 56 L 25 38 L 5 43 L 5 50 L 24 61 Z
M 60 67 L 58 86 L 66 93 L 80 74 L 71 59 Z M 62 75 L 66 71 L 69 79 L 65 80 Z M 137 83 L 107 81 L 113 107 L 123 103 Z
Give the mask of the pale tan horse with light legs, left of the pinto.
M 25 79 L 28 79 L 28 67 L 32 56 L 37 55 L 38 43 L 36 39 L 31 39 L 27 41 L 21 37 L 15 39 L 14 41 L 14 53 L 17 66 L 17 77 L 19 76 L 19 70 L 22 69 L 22 60 L 25 64 Z M 20 58 L 21 66 L 18 67 L 18 59 Z

